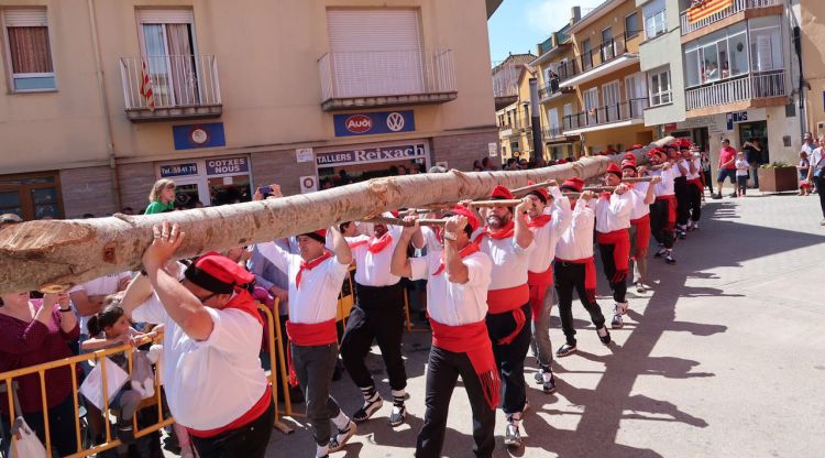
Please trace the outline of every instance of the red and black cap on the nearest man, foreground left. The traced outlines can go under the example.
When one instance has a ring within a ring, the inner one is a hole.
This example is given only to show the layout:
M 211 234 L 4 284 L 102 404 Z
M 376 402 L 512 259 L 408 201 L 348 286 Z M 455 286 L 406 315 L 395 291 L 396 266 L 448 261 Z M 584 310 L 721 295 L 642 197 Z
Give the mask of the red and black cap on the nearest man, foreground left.
M 221 253 L 210 251 L 186 270 L 186 277 L 196 285 L 217 294 L 229 294 L 245 287 L 255 275 Z

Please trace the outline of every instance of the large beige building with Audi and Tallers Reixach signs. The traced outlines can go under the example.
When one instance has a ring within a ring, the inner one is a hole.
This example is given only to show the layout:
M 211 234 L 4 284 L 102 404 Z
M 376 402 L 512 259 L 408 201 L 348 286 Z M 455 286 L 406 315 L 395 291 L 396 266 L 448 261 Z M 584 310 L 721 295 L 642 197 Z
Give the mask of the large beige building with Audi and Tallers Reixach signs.
M 501 0 L 0 0 L 0 212 L 249 200 L 497 151 Z M 460 23 L 461 28 L 455 24 Z

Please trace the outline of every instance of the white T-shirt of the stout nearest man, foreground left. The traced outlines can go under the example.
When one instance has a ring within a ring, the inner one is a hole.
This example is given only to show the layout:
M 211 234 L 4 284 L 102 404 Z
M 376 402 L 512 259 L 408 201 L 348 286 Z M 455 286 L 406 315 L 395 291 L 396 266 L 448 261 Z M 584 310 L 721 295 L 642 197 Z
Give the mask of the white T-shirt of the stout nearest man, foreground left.
M 169 318 L 157 294 L 132 312 L 135 320 L 164 325 L 163 381 L 172 415 L 200 430 L 240 418 L 268 384 L 258 359 L 263 326 L 243 310 L 205 308 L 215 325 L 201 341 Z

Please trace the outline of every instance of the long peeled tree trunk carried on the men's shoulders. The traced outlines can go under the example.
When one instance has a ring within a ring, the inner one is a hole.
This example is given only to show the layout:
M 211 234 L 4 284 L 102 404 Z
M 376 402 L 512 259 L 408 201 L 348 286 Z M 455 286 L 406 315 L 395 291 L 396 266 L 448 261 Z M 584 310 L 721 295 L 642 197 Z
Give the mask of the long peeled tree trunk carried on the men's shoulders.
M 666 138 L 636 150 L 660 146 Z M 377 217 L 385 210 L 477 199 L 496 185 L 524 186 L 528 179 L 592 178 L 623 155 L 583 157 L 575 163 L 516 172 L 450 171 L 376 178 L 311 194 L 158 215 L 29 221 L 0 231 L 0 294 L 62 291 L 106 274 L 141 269 L 141 255 L 152 243 L 152 226 L 177 222 L 186 239 L 176 254 L 191 258 L 210 250 L 306 233 L 342 221 Z

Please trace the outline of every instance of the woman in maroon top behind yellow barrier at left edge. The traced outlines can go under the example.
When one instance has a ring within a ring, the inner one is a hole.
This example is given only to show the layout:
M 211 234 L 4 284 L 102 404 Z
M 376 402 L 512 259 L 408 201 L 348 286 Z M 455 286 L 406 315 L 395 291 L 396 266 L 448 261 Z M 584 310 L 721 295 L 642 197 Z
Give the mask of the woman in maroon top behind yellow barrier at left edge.
M 0 307 L 0 372 L 72 357 L 69 342 L 77 339 L 79 334 L 67 293 L 46 294 L 43 299 L 30 299 L 28 292 L 3 295 Z M 40 377 L 33 373 L 15 378 L 15 381 L 23 417 L 45 444 Z M 45 385 L 52 446 L 57 448 L 61 456 L 76 454 L 75 404 L 69 367 L 47 370 Z M 0 400 L 0 412 L 6 429 L 9 427 L 8 396 Z M 20 412 L 14 414 L 20 415 Z

